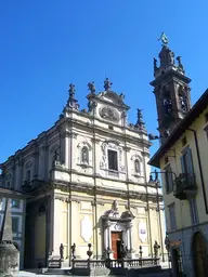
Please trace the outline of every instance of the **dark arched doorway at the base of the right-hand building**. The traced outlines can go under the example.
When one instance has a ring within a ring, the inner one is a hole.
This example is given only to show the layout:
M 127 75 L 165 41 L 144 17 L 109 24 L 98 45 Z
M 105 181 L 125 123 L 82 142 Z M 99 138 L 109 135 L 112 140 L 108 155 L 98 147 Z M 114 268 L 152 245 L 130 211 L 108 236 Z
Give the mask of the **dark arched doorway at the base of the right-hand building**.
M 196 277 L 206 277 L 206 241 L 197 232 L 193 238 L 193 262 Z

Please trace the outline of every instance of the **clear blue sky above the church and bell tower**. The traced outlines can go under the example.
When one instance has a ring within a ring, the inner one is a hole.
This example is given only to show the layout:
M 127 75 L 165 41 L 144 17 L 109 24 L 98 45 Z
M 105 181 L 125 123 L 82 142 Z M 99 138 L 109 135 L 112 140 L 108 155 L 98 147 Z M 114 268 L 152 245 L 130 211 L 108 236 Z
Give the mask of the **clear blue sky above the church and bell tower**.
M 165 31 L 182 56 L 195 103 L 208 87 L 207 13 L 207 0 L 1 1 L 0 162 L 57 120 L 70 82 L 84 108 L 87 83 L 101 91 L 108 77 L 126 94 L 129 120 L 143 108 L 148 132 L 156 132 L 148 83 L 157 38 Z

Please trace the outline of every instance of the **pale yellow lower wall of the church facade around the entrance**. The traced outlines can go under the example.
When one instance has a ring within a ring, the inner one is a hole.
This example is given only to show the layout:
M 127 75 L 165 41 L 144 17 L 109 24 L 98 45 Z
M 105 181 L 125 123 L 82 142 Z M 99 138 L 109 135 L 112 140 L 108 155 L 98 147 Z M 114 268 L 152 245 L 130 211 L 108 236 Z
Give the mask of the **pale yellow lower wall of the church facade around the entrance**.
M 62 194 L 64 196 L 64 194 Z M 67 194 L 66 194 L 67 195 Z M 66 196 L 65 195 L 65 196 Z M 74 194 L 73 194 L 74 195 Z M 78 194 L 79 195 L 79 194 Z M 115 197 L 110 196 L 98 196 L 98 219 L 95 221 L 95 208 L 92 205 L 91 196 L 88 196 L 87 194 L 83 196 L 81 193 L 79 195 L 80 197 L 83 197 L 83 200 L 73 200 L 72 201 L 72 214 L 73 214 L 73 232 L 72 232 L 72 241 L 76 243 L 76 255 L 77 258 L 87 259 L 87 250 L 88 250 L 88 243 L 92 243 L 92 251 L 93 254 L 96 253 L 96 236 L 95 236 L 95 229 L 98 229 L 98 255 L 101 256 L 103 254 L 103 224 L 102 224 L 102 215 L 108 210 L 112 209 L 112 203 L 115 200 Z M 87 200 L 88 198 L 88 200 Z M 119 206 L 119 212 L 126 211 L 126 205 L 127 201 L 117 198 Z M 133 227 L 132 227 L 132 245 L 133 249 L 135 250 L 135 254 L 139 253 L 139 246 L 143 247 L 143 256 L 148 256 L 151 252 L 153 252 L 153 245 L 154 241 L 157 240 L 158 243 L 161 245 L 161 241 L 164 242 L 164 225 L 162 225 L 162 239 L 160 236 L 160 226 L 159 226 L 159 217 L 158 212 L 156 212 L 155 208 L 150 209 L 150 217 L 151 217 L 151 234 L 152 234 L 152 249 L 150 243 L 150 233 L 148 233 L 148 216 L 147 216 L 147 210 L 146 203 L 138 200 L 132 199 L 131 200 L 132 207 L 132 213 L 135 216 L 133 220 Z M 151 203 L 151 206 L 155 207 L 155 203 Z M 64 255 L 67 258 L 67 247 L 68 247 L 68 238 L 69 238 L 69 230 L 68 230 L 68 203 L 66 203 L 63 200 L 55 199 L 54 203 L 54 250 L 58 254 L 58 246 L 60 243 L 64 243 Z M 161 217 L 164 216 L 161 212 Z M 91 229 L 92 229 L 92 236 L 88 241 L 86 241 L 81 235 L 81 221 L 84 220 L 84 217 L 88 217 Z M 146 229 L 148 233 L 147 239 L 145 242 L 142 242 L 139 238 L 139 223 L 144 222 L 146 224 Z M 164 222 L 164 221 L 162 221 Z

